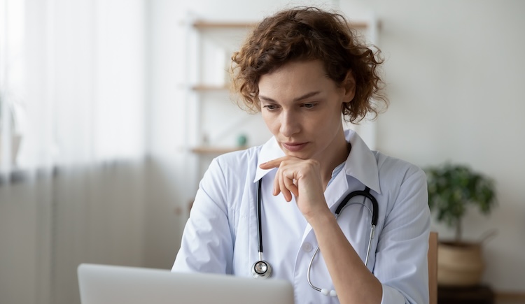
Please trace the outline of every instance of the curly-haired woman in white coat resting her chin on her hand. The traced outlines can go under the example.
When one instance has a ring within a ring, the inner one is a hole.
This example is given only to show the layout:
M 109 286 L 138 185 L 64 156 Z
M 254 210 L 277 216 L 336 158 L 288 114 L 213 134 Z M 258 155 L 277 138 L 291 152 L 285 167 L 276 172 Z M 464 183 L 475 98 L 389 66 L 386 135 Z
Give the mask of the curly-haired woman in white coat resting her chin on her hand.
M 341 120 L 386 103 L 377 54 L 341 15 L 294 8 L 265 18 L 232 59 L 244 104 L 274 136 L 214 159 L 173 270 L 283 278 L 296 303 L 428 303 L 425 175 Z M 364 196 L 336 219 L 353 191 Z

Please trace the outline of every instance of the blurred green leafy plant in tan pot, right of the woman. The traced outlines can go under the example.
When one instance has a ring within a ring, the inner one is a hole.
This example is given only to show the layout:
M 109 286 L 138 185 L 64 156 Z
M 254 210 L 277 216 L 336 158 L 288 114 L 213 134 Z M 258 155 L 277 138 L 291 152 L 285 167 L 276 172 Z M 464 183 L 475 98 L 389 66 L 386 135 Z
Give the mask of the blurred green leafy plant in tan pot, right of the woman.
M 462 220 L 469 205 L 489 214 L 496 205 L 496 190 L 491 178 L 469 166 L 445 163 L 425 168 L 428 205 L 436 219 L 455 230 L 455 238 L 440 241 L 437 281 L 441 285 L 470 286 L 481 280 L 484 261 L 481 242 L 465 242 Z

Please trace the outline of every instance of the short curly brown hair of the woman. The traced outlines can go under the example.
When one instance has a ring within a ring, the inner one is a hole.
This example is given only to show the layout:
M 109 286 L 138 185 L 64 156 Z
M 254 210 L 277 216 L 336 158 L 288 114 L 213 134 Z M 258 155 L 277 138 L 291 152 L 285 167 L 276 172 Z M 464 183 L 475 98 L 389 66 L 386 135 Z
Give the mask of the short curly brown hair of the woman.
M 372 50 L 375 49 L 375 52 Z M 384 82 L 379 75 L 383 63 L 380 50 L 360 41 L 345 17 L 314 7 L 282 10 L 260 22 L 239 51 L 232 55 L 232 80 L 241 94 L 245 110 L 260 111 L 258 82 L 290 61 L 321 60 L 328 77 L 342 86 L 351 71 L 356 81 L 354 98 L 344 103 L 342 114 L 348 122 L 359 122 L 382 105 Z

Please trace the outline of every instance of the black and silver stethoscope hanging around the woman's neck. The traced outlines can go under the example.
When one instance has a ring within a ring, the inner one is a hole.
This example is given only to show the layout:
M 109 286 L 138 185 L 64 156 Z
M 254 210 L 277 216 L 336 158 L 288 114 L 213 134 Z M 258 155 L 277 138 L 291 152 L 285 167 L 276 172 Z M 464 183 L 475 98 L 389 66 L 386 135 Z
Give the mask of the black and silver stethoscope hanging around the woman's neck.
M 256 261 L 253 263 L 253 266 L 251 267 L 251 275 L 255 279 L 267 279 L 272 275 L 272 266 L 265 260 L 262 259 L 262 220 L 261 220 L 261 188 L 262 188 L 262 178 L 258 182 L 258 189 L 257 189 L 257 226 L 258 226 L 258 238 L 259 238 L 259 244 L 258 244 L 258 253 L 259 253 L 259 261 Z M 365 199 L 363 200 L 363 203 L 350 203 L 347 204 L 351 198 L 355 196 L 364 196 Z M 366 198 L 372 202 L 372 210 L 365 205 Z M 368 257 L 370 256 L 370 247 L 372 246 L 372 239 L 374 238 L 374 232 L 375 232 L 375 226 L 377 224 L 377 217 L 379 217 L 379 207 L 377 205 L 377 200 L 370 194 L 370 188 L 365 187 L 365 190 L 361 191 L 352 191 L 350 194 L 346 195 L 341 203 L 337 206 L 337 209 L 335 210 L 335 219 L 339 217 L 339 214 L 343 210 L 344 207 L 347 205 L 363 205 L 372 215 L 372 222 L 370 223 L 370 236 L 368 238 L 368 246 L 366 249 L 366 258 L 365 258 L 365 266 L 368 264 Z M 314 259 L 319 251 L 319 246 L 317 246 L 314 255 L 311 256 L 310 263 L 308 265 L 308 272 L 307 272 L 307 280 L 308 284 L 311 288 L 315 289 L 316 291 L 321 292 L 321 294 L 325 296 L 337 296 L 337 293 L 335 290 L 329 290 L 329 289 L 321 289 L 319 287 L 316 287 L 314 284 L 311 283 L 310 280 L 310 270 L 311 270 L 311 264 L 314 263 Z

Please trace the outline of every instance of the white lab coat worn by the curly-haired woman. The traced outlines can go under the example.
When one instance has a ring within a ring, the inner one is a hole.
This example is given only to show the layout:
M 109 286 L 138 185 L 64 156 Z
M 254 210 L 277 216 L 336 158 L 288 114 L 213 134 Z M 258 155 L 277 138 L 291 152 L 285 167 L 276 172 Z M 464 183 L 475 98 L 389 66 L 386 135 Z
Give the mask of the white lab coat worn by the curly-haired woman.
M 325 190 L 332 212 L 351 191 L 370 187 L 378 201 L 377 222 L 368 268 L 383 285 L 381 303 L 428 303 L 428 234 L 430 211 L 426 178 L 421 169 L 373 152 L 353 131 L 345 132 L 351 152 Z M 195 196 L 190 219 L 173 271 L 227 273 L 251 277 L 258 261 L 256 193 L 262 178 L 263 259 L 272 264 L 272 277 L 292 282 L 295 303 L 339 303 L 307 282 L 307 269 L 317 247 L 314 231 L 295 201 L 272 195 L 276 169 L 258 165 L 283 157 L 274 138 L 265 145 L 232 152 L 212 161 Z M 362 202 L 356 196 L 351 202 Z M 366 203 L 372 208 L 370 201 Z M 361 204 L 342 210 L 339 226 L 363 259 L 370 233 L 370 212 Z M 311 281 L 334 289 L 322 252 L 311 268 Z

